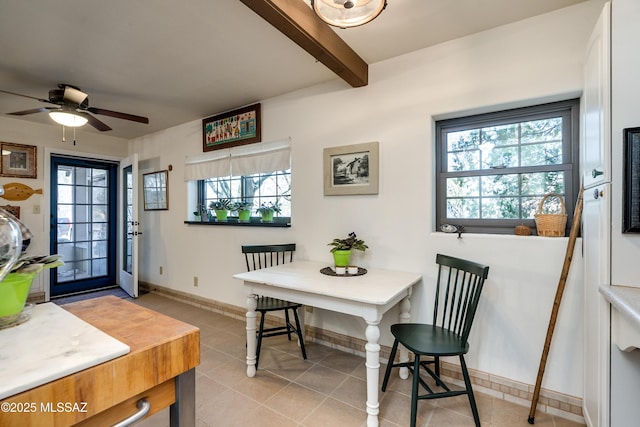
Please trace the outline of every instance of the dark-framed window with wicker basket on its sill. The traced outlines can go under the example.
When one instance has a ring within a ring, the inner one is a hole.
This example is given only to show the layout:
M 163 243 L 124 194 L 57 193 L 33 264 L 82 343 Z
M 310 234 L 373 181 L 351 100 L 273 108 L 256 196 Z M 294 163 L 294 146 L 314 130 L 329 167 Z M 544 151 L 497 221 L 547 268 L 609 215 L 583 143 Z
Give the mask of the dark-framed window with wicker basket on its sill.
M 437 229 L 513 234 L 535 227 L 545 194 L 571 224 L 578 194 L 579 100 L 436 122 Z M 559 213 L 548 198 L 545 212 Z

